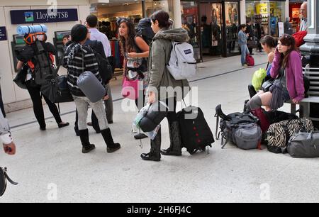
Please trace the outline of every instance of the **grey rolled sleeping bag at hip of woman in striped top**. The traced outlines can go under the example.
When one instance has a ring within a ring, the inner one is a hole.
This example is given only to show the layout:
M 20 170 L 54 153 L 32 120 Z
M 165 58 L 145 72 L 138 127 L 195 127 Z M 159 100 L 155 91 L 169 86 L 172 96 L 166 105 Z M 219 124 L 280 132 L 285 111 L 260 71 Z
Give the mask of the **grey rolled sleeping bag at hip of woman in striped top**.
M 106 95 L 106 89 L 103 87 L 99 79 L 92 72 L 83 72 L 77 79 L 77 86 L 93 103 L 103 99 Z

